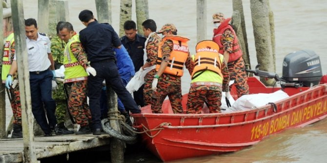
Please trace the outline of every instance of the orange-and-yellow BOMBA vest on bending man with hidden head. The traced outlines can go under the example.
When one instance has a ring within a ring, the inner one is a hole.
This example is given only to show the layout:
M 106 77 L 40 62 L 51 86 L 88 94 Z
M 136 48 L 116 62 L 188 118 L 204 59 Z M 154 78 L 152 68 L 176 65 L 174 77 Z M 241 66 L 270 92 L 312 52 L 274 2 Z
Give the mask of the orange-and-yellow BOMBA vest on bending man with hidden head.
M 216 82 L 223 83 L 221 71 L 224 55 L 219 54 L 219 46 L 211 40 L 200 41 L 196 45 L 194 70 L 191 75 L 191 83 L 194 82 Z

